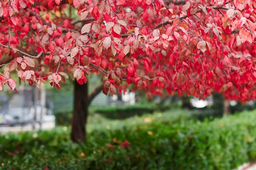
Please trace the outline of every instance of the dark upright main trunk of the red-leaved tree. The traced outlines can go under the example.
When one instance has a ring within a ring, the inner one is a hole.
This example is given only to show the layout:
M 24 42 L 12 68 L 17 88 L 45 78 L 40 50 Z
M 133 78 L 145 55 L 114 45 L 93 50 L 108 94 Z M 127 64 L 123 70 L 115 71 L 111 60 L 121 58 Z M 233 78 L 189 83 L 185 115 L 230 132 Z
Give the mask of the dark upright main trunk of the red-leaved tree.
M 88 116 L 88 82 L 79 85 L 75 81 L 74 111 L 72 120 L 71 140 L 73 142 L 85 142 L 85 125 Z

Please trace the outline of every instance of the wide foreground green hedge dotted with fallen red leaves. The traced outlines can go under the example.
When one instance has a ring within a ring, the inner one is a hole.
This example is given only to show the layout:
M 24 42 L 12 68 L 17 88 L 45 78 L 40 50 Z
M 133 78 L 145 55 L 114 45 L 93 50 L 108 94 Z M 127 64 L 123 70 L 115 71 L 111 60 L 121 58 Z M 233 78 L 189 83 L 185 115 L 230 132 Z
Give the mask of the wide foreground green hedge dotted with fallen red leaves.
M 6 170 L 24 166 L 29 170 L 230 170 L 256 159 L 256 111 L 211 122 L 168 123 L 166 118 L 91 130 L 86 144 L 72 144 L 70 130 L 61 129 L 38 132 L 34 138 L 33 133 L 0 136 L 0 166 Z

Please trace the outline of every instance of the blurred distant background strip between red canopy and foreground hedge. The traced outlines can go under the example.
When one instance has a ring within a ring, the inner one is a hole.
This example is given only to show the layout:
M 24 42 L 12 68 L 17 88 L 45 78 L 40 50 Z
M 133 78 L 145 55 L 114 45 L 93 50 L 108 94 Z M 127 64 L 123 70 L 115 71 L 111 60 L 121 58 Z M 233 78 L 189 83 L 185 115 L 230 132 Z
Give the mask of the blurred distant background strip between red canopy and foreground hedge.
M 89 93 L 102 85 L 100 78 L 91 75 L 88 82 Z M 48 84 L 38 89 L 25 83 L 17 91 L 0 92 L 0 133 L 8 131 L 43 130 L 55 126 L 69 126 L 72 122 L 74 87 L 72 80 L 63 84 L 60 90 L 52 89 Z M 123 91 L 122 91 L 123 92 Z M 99 91 L 89 106 L 90 116 L 99 115 L 106 119 L 125 119 L 142 116 L 145 113 L 163 112 L 169 109 L 186 109 L 198 120 L 213 119 L 255 108 L 255 101 L 240 103 L 224 101 L 221 94 L 213 93 L 204 100 L 177 94 L 161 98 L 140 91 L 117 93 L 113 97 Z M 172 113 L 170 113 L 172 114 Z M 90 119 L 88 120 L 90 123 Z

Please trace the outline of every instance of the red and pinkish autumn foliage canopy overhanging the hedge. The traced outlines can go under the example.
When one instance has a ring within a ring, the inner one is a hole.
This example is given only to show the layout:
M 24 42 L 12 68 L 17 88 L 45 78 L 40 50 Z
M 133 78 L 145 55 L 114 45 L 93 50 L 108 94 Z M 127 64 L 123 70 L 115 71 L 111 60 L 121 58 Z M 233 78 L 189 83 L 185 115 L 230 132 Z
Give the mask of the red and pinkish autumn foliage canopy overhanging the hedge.
M 80 84 L 102 75 L 104 94 L 135 84 L 255 99 L 255 9 L 256 0 L 2 0 L 0 90 L 15 89 L 10 71 L 38 88 L 60 88 L 72 72 Z

